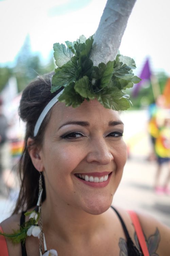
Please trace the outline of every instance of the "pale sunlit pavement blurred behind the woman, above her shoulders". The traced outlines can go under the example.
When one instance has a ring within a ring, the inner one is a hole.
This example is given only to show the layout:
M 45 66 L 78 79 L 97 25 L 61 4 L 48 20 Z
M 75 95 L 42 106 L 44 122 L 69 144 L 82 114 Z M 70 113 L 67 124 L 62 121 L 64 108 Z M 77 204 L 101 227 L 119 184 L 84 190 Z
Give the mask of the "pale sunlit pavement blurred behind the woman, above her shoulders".
M 170 195 L 158 196 L 154 193 L 155 169 L 155 163 L 145 161 L 143 157 L 129 159 L 113 204 L 125 209 L 147 212 L 170 227 Z M 163 171 L 165 177 L 167 170 Z M 8 199 L 0 195 L 0 221 L 10 215 L 15 198 L 15 193 L 11 193 Z

